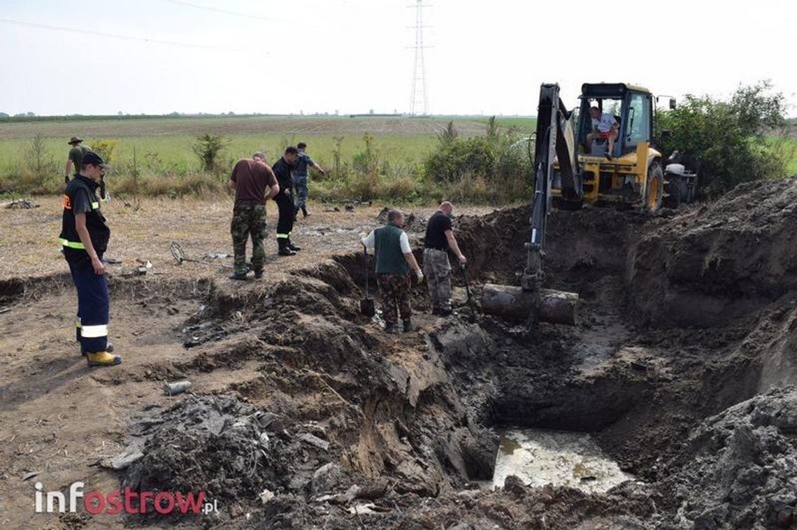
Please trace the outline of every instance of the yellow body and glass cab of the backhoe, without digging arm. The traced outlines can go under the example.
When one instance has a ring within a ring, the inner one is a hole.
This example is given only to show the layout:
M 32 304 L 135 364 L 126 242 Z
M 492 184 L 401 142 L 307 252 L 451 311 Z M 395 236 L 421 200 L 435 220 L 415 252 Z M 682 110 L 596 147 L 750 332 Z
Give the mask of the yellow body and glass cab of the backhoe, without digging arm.
M 625 83 L 585 83 L 579 97 L 578 123 L 575 124 L 580 203 L 619 203 L 642 206 L 655 211 L 664 198 L 662 154 L 651 147 L 653 140 L 654 97 L 646 88 Z M 614 148 L 607 153 L 607 140 L 587 141 L 595 124 L 590 108 L 609 113 L 618 123 Z M 555 173 L 559 171 L 554 165 Z M 555 177 L 552 195 L 557 202 L 574 202 L 571 193 L 557 189 Z

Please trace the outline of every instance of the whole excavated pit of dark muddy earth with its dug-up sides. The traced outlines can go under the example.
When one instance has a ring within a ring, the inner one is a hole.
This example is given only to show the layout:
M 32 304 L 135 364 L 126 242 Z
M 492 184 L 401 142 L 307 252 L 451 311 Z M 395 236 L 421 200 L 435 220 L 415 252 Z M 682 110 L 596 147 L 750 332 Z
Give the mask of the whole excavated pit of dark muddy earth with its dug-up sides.
M 545 284 L 579 292 L 573 327 L 469 323 L 461 289 L 461 317 L 434 319 L 415 288 L 418 331 L 387 336 L 359 314 L 354 253 L 210 285 L 177 368 L 257 375 L 143 411 L 123 484 L 202 490 L 220 528 L 790 528 L 797 392 L 775 387 L 797 373 L 791 204 L 790 180 L 657 216 L 553 214 Z M 457 220 L 477 299 L 516 285 L 527 222 Z M 755 259 L 738 246 L 754 241 Z M 479 489 L 507 428 L 591 434 L 637 480 Z

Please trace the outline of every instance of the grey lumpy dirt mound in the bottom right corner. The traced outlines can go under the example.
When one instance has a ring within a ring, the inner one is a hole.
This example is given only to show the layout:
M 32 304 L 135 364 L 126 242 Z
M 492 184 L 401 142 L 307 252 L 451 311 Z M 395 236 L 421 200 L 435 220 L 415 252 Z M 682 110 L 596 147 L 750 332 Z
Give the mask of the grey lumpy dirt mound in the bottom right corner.
M 797 389 L 724 410 L 693 431 L 656 488 L 694 528 L 791 528 L 797 509 Z M 760 526 L 756 526 L 760 525 Z

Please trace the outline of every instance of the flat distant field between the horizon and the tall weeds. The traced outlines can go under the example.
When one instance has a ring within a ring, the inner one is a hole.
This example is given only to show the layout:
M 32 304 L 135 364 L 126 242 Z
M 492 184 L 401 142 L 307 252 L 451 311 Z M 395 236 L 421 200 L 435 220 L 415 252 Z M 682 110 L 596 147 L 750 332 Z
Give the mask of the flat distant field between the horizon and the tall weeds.
M 330 167 L 340 142 L 340 158 L 351 159 L 363 151 L 368 134 L 372 147 L 391 161 L 417 163 L 434 149 L 439 132 L 449 121 L 461 135 L 485 132 L 488 118 L 482 116 L 440 116 L 408 118 L 392 116 L 308 117 L 308 116 L 179 116 L 106 117 L 80 120 L 29 120 L 0 122 L 0 175 L 9 174 L 26 163 L 30 139 L 39 134 L 45 139 L 48 156 L 65 163 L 67 140 L 80 135 L 92 145 L 98 139 L 115 140 L 112 163 L 129 167 L 133 151 L 143 171 L 182 174 L 196 171 L 199 162 L 191 146 L 201 134 L 224 135 L 228 139 L 228 162 L 265 150 L 275 159 L 282 148 L 297 142 L 308 143 L 308 152 L 322 166 Z M 500 118 L 503 128 L 532 129 L 533 118 Z

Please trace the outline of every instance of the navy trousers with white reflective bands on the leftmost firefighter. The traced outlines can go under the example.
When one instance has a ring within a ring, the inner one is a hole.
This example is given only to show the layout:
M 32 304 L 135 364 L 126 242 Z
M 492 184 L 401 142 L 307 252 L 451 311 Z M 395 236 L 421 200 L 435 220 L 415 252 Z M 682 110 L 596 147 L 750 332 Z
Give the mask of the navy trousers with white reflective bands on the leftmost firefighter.
M 108 279 L 94 273 L 92 261 L 67 261 L 77 288 L 77 334 L 80 351 L 93 353 L 108 347 Z

